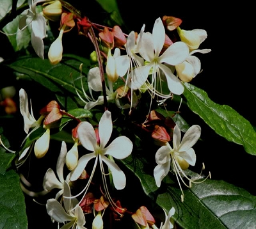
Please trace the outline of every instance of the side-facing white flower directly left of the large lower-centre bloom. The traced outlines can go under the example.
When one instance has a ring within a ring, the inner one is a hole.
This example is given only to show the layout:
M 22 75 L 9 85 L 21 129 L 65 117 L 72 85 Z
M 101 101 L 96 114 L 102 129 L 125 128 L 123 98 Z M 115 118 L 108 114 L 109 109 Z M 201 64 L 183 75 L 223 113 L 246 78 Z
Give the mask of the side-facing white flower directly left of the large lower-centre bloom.
M 51 191 L 52 189 L 60 189 L 60 191 L 58 191 L 58 193 L 55 196 L 56 200 L 58 200 L 61 194 L 63 194 L 63 190 L 64 190 L 65 180 L 63 177 L 63 168 L 65 164 L 66 155 L 67 155 L 67 145 L 65 141 L 62 141 L 60 155 L 58 157 L 58 161 L 56 164 L 56 173 L 58 178 L 56 177 L 54 171 L 51 168 L 49 168 L 44 175 L 43 187 L 45 191 Z M 70 173 L 66 178 L 66 182 L 70 181 L 69 176 L 70 176 Z

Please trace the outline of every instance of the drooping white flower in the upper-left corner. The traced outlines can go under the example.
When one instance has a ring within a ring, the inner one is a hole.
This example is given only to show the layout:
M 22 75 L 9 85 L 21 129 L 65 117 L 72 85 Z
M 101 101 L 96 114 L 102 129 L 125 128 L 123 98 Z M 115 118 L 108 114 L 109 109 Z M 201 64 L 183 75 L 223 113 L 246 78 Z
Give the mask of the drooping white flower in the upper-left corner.
M 44 59 L 44 42 L 46 36 L 46 22 L 43 15 L 36 13 L 36 4 L 46 0 L 29 0 L 29 10 L 26 15 L 20 18 L 19 29 L 23 29 L 31 23 L 31 44 L 36 54 Z

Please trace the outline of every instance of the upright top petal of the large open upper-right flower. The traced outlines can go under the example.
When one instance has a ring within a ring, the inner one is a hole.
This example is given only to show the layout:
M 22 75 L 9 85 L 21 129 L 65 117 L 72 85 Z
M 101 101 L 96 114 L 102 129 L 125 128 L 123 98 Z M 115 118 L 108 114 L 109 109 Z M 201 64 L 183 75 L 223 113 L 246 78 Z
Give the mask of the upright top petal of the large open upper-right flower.
M 152 36 L 153 36 L 155 55 L 159 56 L 161 50 L 163 49 L 164 40 L 165 40 L 164 25 L 160 17 L 155 21 Z

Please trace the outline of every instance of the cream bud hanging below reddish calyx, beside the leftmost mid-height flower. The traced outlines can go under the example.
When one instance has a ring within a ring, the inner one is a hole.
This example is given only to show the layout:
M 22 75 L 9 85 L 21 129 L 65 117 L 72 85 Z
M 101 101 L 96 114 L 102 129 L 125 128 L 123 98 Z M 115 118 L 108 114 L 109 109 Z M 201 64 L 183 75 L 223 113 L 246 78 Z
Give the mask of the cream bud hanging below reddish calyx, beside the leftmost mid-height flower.
M 44 134 L 36 140 L 34 152 L 37 158 L 42 158 L 47 153 L 50 145 L 50 129 L 46 129 Z

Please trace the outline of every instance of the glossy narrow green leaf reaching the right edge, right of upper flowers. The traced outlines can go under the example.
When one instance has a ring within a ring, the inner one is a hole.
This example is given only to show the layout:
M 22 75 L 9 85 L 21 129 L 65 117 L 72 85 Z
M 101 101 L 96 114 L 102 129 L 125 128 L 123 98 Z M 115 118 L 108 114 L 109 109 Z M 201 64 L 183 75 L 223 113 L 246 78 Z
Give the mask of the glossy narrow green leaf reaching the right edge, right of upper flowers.
M 212 102 L 207 93 L 185 83 L 184 96 L 189 109 L 198 114 L 217 134 L 244 146 L 248 154 L 256 155 L 256 132 L 248 120 L 227 105 Z

